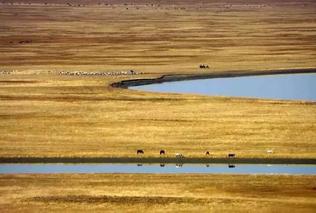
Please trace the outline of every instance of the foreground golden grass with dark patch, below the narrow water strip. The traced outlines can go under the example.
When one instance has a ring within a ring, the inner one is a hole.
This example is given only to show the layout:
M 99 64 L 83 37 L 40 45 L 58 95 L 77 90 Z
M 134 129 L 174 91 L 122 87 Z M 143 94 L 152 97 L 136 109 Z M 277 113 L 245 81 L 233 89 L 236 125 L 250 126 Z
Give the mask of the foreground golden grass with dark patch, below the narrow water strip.
M 304 212 L 315 176 L 24 174 L 0 176 L 1 212 Z

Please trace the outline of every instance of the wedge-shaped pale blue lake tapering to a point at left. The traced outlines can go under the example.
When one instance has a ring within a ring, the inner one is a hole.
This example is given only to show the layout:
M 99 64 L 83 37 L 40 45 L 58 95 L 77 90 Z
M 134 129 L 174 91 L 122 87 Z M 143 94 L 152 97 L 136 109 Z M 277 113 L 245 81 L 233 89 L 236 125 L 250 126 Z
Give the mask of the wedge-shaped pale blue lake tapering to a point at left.
M 130 88 L 152 92 L 316 101 L 316 74 L 213 78 Z

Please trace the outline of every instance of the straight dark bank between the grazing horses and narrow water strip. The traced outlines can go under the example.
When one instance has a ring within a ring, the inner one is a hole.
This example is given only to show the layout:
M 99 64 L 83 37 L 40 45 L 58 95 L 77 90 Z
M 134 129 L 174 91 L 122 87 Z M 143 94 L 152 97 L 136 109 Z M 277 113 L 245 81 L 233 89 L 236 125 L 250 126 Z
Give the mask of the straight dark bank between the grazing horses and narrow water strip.
M 0 158 L 0 163 L 241 163 L 241 164 L 316 164 L 315 158 Z

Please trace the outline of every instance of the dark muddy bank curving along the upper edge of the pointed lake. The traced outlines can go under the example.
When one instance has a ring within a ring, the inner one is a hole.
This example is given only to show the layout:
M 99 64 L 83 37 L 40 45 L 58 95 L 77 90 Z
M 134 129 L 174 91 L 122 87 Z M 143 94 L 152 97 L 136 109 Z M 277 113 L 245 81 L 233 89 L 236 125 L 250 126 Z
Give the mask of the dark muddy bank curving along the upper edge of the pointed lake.
M 216 73 L 198 73 L 198 74 L 171 74 L 171 75 L 162 75 L 161 77 L 152 78 L 152 79 L 122 80 L 120 82 L 112 83 L 109 86 L 128 88 L 131 86 L 141 86 L 141 85 L 171 82 L 171 81 L 242 77 L 242 76 L 255 76 L 255 75 L 273 75 L 273 74 L 303 74 L 303 73 L 314 73 L 314 72 L 316 72 L 316 68 L 270 70 L 270 71 L 222 71 L 222 72 L 216 72 Z

